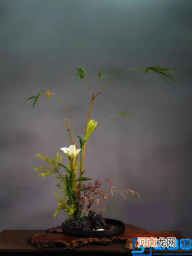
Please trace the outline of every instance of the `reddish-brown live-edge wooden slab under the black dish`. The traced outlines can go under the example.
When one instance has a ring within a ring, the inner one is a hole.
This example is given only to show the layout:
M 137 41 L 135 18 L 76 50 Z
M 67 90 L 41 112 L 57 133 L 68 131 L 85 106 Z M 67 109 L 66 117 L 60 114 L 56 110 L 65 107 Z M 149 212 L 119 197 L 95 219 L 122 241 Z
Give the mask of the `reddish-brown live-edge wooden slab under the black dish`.
M 61 226 L 46 230 L 45 234 L 37 233 L 30 238 L 30 243 L 38 248 L 61 247 L 63 249 L 77 249 L 90 245 L 110 245 L 124 244 L 124 249 L 132 250 L 132 238 L 138 237 L 176 237 L 180 239 L 176 232 L 150 231 L 134 225 L 126 224 L 126 229 L 122 234 L 112 237 L 101 238 L 80 238 L 62 234 Z

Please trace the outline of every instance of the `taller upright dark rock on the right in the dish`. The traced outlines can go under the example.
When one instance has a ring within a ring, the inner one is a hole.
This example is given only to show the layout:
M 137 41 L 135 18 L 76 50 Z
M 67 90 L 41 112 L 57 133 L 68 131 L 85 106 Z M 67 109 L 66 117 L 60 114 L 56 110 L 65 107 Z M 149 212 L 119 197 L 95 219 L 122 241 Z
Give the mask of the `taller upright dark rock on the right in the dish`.
M 96 212 L 93 210 L 89 211 L 89 219 L 91 221 L 92 229 L 105 228 L 106 221 L 101 212 Z

